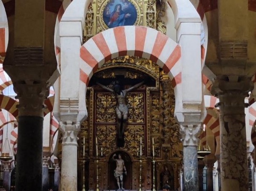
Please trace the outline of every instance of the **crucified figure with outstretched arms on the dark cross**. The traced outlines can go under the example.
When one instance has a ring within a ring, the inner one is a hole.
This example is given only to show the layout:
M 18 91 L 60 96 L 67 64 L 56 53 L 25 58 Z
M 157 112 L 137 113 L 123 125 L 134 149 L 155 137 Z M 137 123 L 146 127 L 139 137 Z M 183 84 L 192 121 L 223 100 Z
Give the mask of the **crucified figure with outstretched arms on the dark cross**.
M 128 118 L 128 106 L 126 104 L 126 95 L 128 91 L 133 90 L 134 88 L 138 88 L 141 86 L 143 82 L 137 83 L 136 85 L 132 86 L 131 88 L 121 90 L 121 87 L 119 84 L 115 84 L 113 86 L 113 89 L 108 88 L 100 83 L 96 83 L 100 87 L 104 88 L 107 91 L 112 92 L 115 94 L 115 97 L 117 99 L 118 105 L 116 105 L 116 116 L 117 116 L 117 146 L 123 147 L 124 146 L 124 140 L 125 140 L 125 128 L 127 125 L 127 118 Z

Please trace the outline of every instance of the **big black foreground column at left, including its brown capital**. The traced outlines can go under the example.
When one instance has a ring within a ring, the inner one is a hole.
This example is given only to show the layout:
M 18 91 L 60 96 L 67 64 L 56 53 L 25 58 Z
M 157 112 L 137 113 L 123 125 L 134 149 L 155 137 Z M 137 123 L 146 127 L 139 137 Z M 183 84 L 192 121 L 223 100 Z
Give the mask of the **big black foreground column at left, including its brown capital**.
M 19 99 L 19 136 L 15 191 L 42 190 L 44 100 L 47 84 L 14 83 Z

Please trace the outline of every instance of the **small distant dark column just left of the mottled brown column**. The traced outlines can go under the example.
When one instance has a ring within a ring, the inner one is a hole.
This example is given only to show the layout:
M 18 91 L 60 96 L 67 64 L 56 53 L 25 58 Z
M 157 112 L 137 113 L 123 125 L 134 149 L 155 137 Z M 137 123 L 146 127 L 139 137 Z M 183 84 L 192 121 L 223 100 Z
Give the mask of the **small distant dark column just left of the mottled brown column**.
M 209 154 L 204 157 L 204 164 L 207 167 L 207 191 L 213 191 L 213 166 L 216 161 L 214 154 Z

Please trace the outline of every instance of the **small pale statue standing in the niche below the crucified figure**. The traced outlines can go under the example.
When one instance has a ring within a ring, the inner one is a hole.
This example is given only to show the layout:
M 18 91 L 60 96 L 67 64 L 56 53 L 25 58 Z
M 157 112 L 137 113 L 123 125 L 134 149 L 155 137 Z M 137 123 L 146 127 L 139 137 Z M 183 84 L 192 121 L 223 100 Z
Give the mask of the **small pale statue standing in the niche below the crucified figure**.
M 114 176 L 116 178 L 116 182 L 118 185 L 118 190 L 124 190 L 123 188 L 123 174 L 127 175 L 126 168 L 125 168 L 125 161 L 122 160 L 121 154 L 118 154 L 118 158 L 115 159 L 116 154 L 113 154 L 112 159 L 116 161 L 116 170 L 114 170 Z M 121 183 L 121 187 L 120 187 Z

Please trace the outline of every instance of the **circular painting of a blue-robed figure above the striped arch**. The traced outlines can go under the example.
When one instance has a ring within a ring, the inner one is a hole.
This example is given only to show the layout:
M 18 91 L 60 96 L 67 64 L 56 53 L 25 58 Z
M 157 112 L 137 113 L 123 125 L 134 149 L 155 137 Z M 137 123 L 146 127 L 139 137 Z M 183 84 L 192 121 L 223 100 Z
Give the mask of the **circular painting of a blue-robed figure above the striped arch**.
M 111 0 L 103 10 L 103 20 L 108 28 L 134 25 L 137 11 L 128 0 Z

